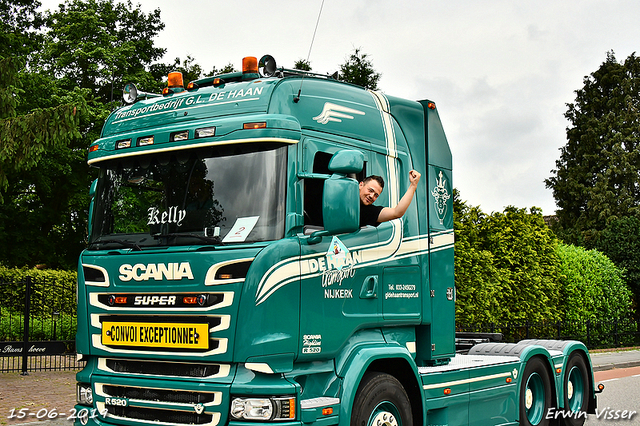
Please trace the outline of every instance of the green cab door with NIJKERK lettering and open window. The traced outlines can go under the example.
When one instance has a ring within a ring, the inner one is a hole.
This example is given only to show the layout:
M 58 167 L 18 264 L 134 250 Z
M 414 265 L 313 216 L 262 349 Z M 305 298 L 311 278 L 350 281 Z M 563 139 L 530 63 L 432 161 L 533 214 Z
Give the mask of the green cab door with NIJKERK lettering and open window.
M 303 141 L 301 172 L 305 231 L 301 245 L 300 359 L 337 353 L 358 329 L 374 327 L 381 318 L 381 266 L 378 232 L 367 226 L 350 234 L 325 236 L 311 244 L 311 233 L 322 229 L 323 176 L 329 160 L 340 149 L 359 149 L 368 162 L 367 146 L 345 146 L 329 141 Z M 366 171 L 366 165 L 365 165 Z M 364 173 L 363 173 L 364 174 Z M 362 176 L 353 176 L 362 179 Z

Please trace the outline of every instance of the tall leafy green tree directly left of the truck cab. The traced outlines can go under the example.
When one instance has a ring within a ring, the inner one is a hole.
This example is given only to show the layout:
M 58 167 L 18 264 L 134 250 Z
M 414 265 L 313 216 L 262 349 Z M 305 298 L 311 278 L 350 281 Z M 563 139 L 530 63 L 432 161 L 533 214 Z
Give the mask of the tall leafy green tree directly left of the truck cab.
M 14 133 L 15 146 L 30 147 L 30 137 L 44 143 L 22 155 L 28 167 L 13 166 L 21 164 L 14 145 L 0 153 L 0 166 L 13 167 L 5 172 L 6 201 L 0 204 L 0 262 L 74 268 L 85 246 L 88 189 L 95 175 L 86 149 L 99 137 L 122 82 L 162 88 L 147 69 L 164 52 L 152 41 L 163 25 L 159 10 L 146 15 L 130 2 L 112 0 L 74 0 L 45 18 L 38 51 L 25 56 L 26 67 L 14 66 L 22 71 L 10 83 L 16 115 L 10 120 L 22 129 Z M 48 133 L 50 126 L 41 119 L 47 113 L 54 123 Z M 75 127 L 67 129 L 67 121 Z M 31 130 L 25 131 L 29 123 Z

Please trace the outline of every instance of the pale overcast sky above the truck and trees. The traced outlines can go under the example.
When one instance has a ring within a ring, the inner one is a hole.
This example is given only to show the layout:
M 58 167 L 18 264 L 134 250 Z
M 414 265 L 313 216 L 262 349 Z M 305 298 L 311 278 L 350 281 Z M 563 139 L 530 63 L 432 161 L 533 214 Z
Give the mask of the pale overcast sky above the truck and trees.
M 264 54 L 292 68 L 309 54 L 322 0 L 133 3 L 161 10 L 164 62 L 191 55 L 208 72 Z M 325 0 L 310 61 L 333 73 L 361 48 L 383 92 L 436 102 L 463 200 L 553 214 L 544 179 L 566 141 L 566 104 L 607 51 L 622 61 L 638 50 L 639 20 L 638 0 Z

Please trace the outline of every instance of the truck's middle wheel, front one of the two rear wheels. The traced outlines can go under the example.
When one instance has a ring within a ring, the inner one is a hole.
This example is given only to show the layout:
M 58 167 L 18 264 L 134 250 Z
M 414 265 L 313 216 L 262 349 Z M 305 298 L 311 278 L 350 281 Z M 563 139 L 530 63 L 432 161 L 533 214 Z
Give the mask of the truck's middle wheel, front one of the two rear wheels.
M 551 379 L 540 358 L 527 361 L 520 382 L 520 425 L 548 426 L 552 407 Z

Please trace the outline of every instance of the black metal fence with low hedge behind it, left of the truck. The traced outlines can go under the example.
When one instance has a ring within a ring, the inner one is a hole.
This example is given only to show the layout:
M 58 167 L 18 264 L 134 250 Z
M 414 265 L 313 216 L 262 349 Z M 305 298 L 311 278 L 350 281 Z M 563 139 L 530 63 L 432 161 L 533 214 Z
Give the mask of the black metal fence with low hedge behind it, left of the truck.
M 0 277 L 0 372 L 74 370 L 75 285 Z

